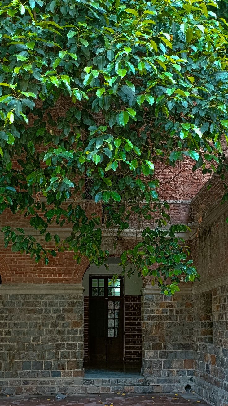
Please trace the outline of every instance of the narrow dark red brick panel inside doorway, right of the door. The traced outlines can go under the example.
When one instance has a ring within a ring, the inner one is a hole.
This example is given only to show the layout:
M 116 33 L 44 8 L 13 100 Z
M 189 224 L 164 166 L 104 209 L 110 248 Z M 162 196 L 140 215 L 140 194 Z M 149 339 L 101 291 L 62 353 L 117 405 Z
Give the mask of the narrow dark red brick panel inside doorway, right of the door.
M 124 361 L 142 360 L 141 296 L 124 296 Z

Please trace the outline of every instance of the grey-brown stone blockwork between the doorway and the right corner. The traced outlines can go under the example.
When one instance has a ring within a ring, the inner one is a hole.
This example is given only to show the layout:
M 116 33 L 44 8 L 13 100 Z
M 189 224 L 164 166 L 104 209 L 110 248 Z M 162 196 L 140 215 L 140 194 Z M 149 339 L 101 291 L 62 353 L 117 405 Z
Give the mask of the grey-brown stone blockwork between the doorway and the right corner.
M 170 392 L 181 377 L 193 382 L 192 296 L 145 294 L 142 320 L 143 374 L 168 380 Z

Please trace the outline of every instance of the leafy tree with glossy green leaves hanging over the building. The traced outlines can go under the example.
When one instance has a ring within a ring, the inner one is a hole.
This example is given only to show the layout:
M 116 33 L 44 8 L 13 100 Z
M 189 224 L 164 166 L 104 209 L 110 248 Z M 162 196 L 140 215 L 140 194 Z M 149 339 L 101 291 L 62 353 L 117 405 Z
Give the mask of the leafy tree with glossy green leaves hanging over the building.
M 46 242 L 53 222 L 72 225 L 50 250 L 23 229 L 4 227 L 6 246 L 45 263 L 50 252 L 72 250 L 78 263 L 85 255 L 100 266 L 109 255 L 101 219 L 87 218 L 74 200 L 85 197 L 86 173 L 91 199 L 105 205 L 106 228 L 119 234 L 132 215 L 149 224 L 122 253 L 123 267 L 130 261 L 165 294 L 198 277 L 176 237 L 188 227 L 162 229 L 168 204 L 154 166 L 188 159 L 193 171 L 222 171 L 228 35 L 217 4 L 1 2 L 0 213 L 24 212 Z

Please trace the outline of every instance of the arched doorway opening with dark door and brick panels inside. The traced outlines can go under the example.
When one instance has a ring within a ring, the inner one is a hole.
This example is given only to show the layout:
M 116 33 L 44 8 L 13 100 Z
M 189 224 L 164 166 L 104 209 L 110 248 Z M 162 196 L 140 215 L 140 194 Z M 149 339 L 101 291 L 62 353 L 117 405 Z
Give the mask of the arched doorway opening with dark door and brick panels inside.
M 90 266 L 83 277 L 84 364 L 93 369 L 141 369 L 141 289 L 137 272 L 121 276 L 120 259 L 104 266 Z M 130 266 L 129 266 L 130 268 Z M 113 283 L 111 278 L 118 274 Z

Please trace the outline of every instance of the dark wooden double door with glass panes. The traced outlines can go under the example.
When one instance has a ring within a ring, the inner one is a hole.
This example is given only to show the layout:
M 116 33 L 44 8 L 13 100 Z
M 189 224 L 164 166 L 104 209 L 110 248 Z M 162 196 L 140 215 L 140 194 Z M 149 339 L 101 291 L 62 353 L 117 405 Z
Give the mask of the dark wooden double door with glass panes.
M 123 282 L 89 277 L 90 361 L 123 361 Z

